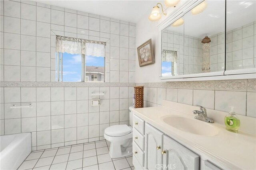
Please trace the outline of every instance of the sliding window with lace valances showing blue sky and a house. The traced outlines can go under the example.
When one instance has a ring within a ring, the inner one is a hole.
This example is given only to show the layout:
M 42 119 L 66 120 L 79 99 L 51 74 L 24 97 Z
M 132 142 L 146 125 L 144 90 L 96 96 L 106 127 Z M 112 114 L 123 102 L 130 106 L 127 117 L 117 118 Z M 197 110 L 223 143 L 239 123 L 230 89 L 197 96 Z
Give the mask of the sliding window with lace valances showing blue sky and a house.
M 106 43 L 56 37 L 56 81 L 104 82 Z

